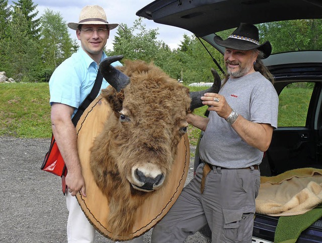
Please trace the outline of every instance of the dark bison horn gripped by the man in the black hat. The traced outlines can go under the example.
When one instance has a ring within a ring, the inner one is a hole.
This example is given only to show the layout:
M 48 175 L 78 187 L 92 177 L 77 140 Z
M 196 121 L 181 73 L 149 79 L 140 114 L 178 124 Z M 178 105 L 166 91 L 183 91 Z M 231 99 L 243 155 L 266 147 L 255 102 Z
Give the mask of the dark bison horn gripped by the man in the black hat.
M 220 86 L 221 86 L 220 76 L 214 68 L 211 68 L 211 72 L 213 75 L 213 85 L 207 90 L 196 91 L 196 92 L 190 93 L 190 98 L 191 98 L 190 110 L 194 110 L 196 108 L 203 106 L 202 100 L 200 98 L 205 93 L 218 93 L 219 92 Z

